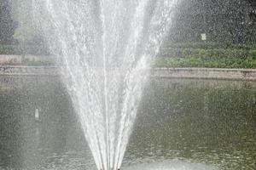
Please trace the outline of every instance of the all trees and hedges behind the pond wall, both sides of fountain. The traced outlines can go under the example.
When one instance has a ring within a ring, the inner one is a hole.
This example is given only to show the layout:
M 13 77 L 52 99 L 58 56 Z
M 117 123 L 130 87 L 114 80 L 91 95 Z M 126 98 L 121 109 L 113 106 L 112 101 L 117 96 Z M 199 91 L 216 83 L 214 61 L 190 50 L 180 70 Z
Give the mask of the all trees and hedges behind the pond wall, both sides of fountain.
M 33 3 L 37 1 L 0 1 L 0 54 L 49 54 Z M 256 68 L 256 1 L 180 0 L 172 21 L 154 66 Z

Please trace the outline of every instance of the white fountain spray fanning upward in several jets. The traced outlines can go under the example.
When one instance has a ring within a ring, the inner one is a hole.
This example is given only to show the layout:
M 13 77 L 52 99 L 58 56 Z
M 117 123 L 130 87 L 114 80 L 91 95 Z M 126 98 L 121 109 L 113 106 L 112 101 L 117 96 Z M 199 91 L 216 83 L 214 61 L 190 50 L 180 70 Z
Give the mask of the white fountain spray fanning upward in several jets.
M 30 1 L 96 167 L 119 169 L 177 0 Z

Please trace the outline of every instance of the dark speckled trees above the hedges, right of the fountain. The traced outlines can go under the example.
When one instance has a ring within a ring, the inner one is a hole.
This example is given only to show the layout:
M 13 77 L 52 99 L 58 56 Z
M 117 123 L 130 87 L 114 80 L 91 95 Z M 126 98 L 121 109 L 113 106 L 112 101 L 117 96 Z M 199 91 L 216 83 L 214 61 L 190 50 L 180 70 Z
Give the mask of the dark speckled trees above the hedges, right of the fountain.
M 174 42 L 255 42 L 254 0 L 183 0 L 179 3 L 170 38 Z M 254 36 L 253 36 L 254 35 Z

